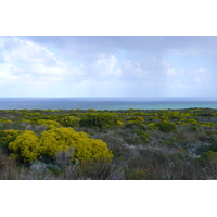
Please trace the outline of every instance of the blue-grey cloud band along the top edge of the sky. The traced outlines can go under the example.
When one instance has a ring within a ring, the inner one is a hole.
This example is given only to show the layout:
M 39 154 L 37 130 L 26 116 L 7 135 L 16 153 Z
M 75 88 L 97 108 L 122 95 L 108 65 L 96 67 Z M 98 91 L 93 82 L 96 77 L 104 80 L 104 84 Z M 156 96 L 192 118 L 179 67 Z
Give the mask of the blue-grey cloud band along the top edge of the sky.
M 60 48 L 81 49 L 84 52 L 94 50 L 112 51 L 117 48 L 135 51 L 165 51 L 167 49 L 213 48 L 217 38 L 213 36 L 37 36 L 28 39 Z

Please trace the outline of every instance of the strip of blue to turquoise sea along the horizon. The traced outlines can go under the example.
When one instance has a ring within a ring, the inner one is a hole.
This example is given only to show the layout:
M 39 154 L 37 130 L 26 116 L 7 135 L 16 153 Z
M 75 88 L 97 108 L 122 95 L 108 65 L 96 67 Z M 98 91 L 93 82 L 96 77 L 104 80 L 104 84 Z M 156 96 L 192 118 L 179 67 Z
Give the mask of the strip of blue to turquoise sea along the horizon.
M 217 108 L 217 98 L 0 98 L 0 110 Z

